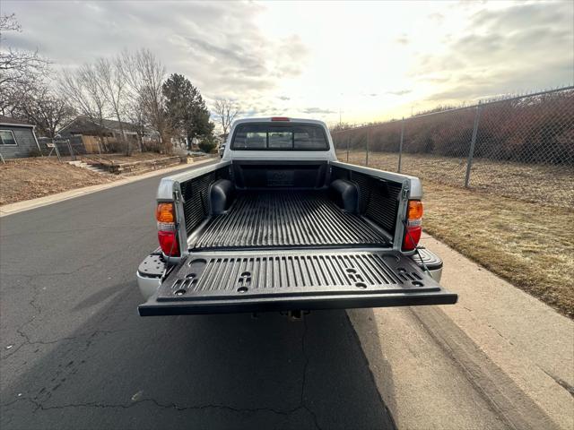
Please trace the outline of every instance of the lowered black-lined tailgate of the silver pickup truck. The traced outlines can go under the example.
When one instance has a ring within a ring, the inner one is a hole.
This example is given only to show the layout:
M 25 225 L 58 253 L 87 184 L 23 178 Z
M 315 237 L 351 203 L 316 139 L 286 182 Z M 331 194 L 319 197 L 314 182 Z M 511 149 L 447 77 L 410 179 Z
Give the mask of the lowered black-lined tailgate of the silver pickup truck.
M 226 314 L 456 302 L 456 294 L 396 251 L 236 251 L 189 255 L 138 311 Z

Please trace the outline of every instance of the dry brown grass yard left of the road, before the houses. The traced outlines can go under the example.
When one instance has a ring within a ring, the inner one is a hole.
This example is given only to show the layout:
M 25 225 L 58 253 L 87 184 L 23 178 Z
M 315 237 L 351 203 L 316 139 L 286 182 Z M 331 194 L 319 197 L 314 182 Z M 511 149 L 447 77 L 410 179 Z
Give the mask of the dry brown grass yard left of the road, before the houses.
M 100 175 L 57 159 L 13 159 L 0 164 L 0 205 L 106 184 L 121 176 Z

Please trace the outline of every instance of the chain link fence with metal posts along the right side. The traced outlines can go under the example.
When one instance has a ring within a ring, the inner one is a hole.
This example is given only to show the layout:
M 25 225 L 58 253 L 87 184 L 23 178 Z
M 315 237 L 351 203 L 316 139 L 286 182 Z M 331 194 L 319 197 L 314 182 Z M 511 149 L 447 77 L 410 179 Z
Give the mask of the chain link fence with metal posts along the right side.
M 339 159 L 574 206 L 574 87 L 334 132 Z

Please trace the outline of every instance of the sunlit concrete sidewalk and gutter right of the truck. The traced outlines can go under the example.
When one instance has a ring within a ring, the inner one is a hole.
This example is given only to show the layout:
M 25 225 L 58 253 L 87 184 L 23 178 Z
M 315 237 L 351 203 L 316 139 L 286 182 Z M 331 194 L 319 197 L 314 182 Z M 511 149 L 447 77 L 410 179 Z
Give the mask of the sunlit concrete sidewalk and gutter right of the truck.
M 574 428 L 574 322 L 425 235 L 457 305 L 349 311 L 399 428 Z

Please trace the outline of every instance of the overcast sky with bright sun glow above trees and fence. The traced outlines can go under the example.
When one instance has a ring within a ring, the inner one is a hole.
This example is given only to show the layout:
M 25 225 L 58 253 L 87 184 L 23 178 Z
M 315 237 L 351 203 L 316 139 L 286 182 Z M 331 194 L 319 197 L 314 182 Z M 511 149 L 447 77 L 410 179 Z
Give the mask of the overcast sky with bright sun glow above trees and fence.
M 0 2 L 74 67 L 148 47 L 248 115 L 360 123 L 574 82 L 574 2 Z

